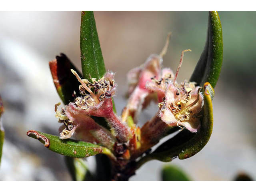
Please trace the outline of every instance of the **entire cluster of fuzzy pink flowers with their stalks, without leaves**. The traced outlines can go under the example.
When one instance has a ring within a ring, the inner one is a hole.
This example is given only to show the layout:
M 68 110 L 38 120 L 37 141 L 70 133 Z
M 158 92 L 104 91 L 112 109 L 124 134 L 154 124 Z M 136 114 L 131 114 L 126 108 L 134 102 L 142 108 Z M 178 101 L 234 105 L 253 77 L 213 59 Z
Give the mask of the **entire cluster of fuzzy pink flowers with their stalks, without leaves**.
M 164 137 L 170 128 L 180 127 L 197 132 L 201 126 L 203 105 L 201 87 L 186 80 L 180 84 L 176 82 L 184 52 L 191 50 L 182 52 L 174 74 L 169 68 L 162 68 L 162 57 L 168 42 L 169 39 L 159 55 L 152 54 L 142 66 L 128 73 L 130 97 L 121 118 L 113 111 L 112 97 L 116 92 L 114 73 L 107 72 L 102 78 L 89 81 L 71 70 L 80 82 L 79 96 L 74 92 L 74 102 L 61 108 L 61 111 L 57 110 L 59 104 L 55 105 L 56 116 L 63 123 L 60 138 L 74 136 L 78 140 L 106 146 L 116 155 L 122 154 L 122 158 L 136 158 Z M 138 116 L 151 100 L 158 102 L 159 110 L 139 128 L 136 126 Z M 104 118 L 110 129 L 96 123 L 93 117 Z

